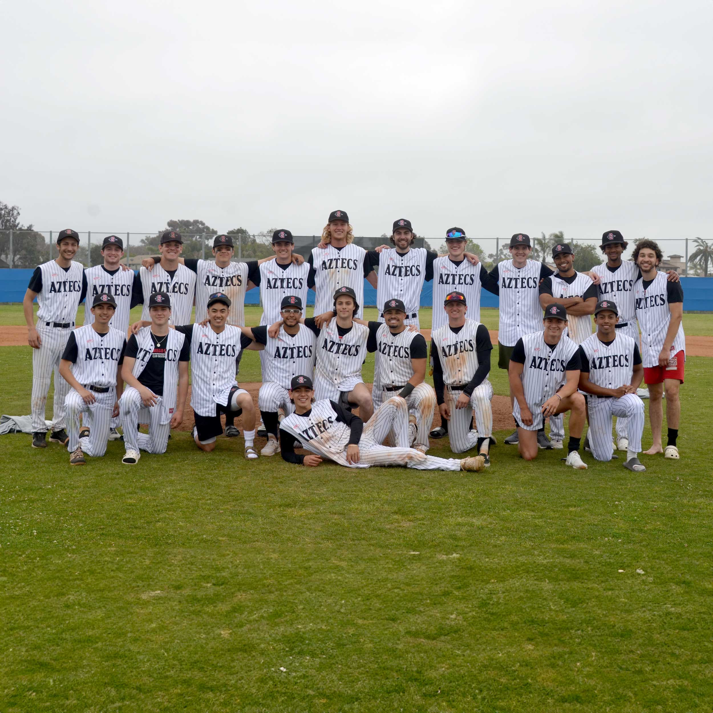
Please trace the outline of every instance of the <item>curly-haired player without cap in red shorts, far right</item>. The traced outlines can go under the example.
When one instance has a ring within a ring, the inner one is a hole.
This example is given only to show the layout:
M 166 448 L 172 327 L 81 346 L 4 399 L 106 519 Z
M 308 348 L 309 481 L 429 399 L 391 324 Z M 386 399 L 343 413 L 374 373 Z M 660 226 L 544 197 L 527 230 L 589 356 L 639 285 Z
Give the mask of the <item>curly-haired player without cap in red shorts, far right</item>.
M 634 283 L 636 317 L 641 327 L 641 356 L 644 381 L 649 387 L 649 419 L 653 443 L 645 455 L 663 451 L 666 458 L 679 458 L 676 439 L 681 416 L 679 388 L 683 384 L 686 361 L 686 337 L 683 333 L 683 289 L 656 268 L 663 260 L 660 247 L 653 240 L 640 240 L 633 260 L 641 270 Z M 666 393 L 668 443 L 662 448 L 662 398 Z

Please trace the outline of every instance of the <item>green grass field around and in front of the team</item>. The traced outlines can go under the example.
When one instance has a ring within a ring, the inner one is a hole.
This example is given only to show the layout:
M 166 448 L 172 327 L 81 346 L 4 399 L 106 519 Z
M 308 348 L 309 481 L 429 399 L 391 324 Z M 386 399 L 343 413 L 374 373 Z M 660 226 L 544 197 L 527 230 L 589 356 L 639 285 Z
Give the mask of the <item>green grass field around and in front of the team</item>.
M 4 414 L 30 352 L 0 348 Z M 248 465 L 185 432 L 71 468 L 3 436 L 0 712 L 709 713 L 712 365 L 686 364 L 682 460 L 645 473 L 524 463 L 506 431 L 483 474 Z

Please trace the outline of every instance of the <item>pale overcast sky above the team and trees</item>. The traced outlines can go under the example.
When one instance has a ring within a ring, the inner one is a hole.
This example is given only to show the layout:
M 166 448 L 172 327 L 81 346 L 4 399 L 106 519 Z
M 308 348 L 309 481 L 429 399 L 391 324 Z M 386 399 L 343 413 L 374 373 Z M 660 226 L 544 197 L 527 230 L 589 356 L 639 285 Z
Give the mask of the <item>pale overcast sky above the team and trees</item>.
M 312 235 L 339 208 L 356 235 L 711 238 L 712 20 L 711 0 L 0 0 L 0 200 L 42 230 Z

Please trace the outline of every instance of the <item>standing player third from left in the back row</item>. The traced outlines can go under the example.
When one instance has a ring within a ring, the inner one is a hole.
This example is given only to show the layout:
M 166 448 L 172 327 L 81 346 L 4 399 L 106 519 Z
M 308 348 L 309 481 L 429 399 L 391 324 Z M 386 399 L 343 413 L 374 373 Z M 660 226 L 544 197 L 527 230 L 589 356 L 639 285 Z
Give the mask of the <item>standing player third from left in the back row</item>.
M 195 272 L 181 265 L 179 257 L 183 250 L 180 232 L 166 230 L 161 235 L 158 251 L 161 260 L 148 270 L 143 265 L 138 273 L 143 292 L 143 322 L 150 322 L 148 300 L 154 292 L 167 292 L 171 297 L 171 323 L 190 324 L 190 313 L 195 299 Z

